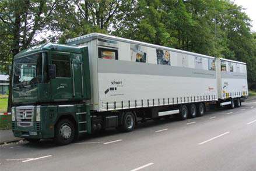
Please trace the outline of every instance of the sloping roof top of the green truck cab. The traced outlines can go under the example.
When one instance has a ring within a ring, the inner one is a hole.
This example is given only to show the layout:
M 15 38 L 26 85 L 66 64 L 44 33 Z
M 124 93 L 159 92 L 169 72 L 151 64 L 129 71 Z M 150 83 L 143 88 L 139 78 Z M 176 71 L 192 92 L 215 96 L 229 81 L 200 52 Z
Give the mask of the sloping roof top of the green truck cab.
M 63 45 L 63 44 L 53 44 L 53 43 L 46 43 L 31 47 L 29 49 L 25 49 L 20 51 L 19 54 L 15 55 L 14 58 L 19 58 L 20 56 L 26 56 L 30 54 L 34 54 L 39 51 L 61 51 L 61 52 L 71 52 L 75 54 L 80 54 L 80 48 L 71 46 L 71 45 Z

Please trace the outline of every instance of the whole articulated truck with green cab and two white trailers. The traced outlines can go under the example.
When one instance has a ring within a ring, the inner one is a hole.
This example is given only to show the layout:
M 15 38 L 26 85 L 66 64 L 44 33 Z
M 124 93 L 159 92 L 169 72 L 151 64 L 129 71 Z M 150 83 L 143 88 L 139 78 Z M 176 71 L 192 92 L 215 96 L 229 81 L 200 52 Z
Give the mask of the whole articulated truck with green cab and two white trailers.
M 149 119 L 241 106 L 246 63 L 92 33 L 14 57 L 12 130 L 60 145 L 82 135 L 134 130 Z

